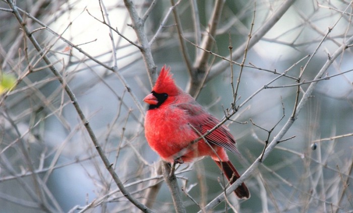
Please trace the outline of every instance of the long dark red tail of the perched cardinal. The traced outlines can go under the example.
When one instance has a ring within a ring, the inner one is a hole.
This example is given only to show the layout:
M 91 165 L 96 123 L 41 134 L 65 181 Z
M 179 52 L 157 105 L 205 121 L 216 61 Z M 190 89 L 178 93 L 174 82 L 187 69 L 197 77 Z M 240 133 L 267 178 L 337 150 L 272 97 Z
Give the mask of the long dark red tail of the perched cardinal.
M 214 161 L 217 163 L 218 167 L 223 171 L 224 175 L 227 177 L 229 180 L 229 183 L 232 184 L 236 182 L 236 180 L 240 177 L 240 174 L 238 173 L 237 169 L 233 166 L 233 164 L 230 161 Z M 236 195 L 243 199 L 243 198 L 249 198 L 250 197 L 250 192 L 248 187 L 245 185 L 245 183 L 242 183 L 241 185 L 238 186 L 236 190 L 234 190 L 234 193 Z

